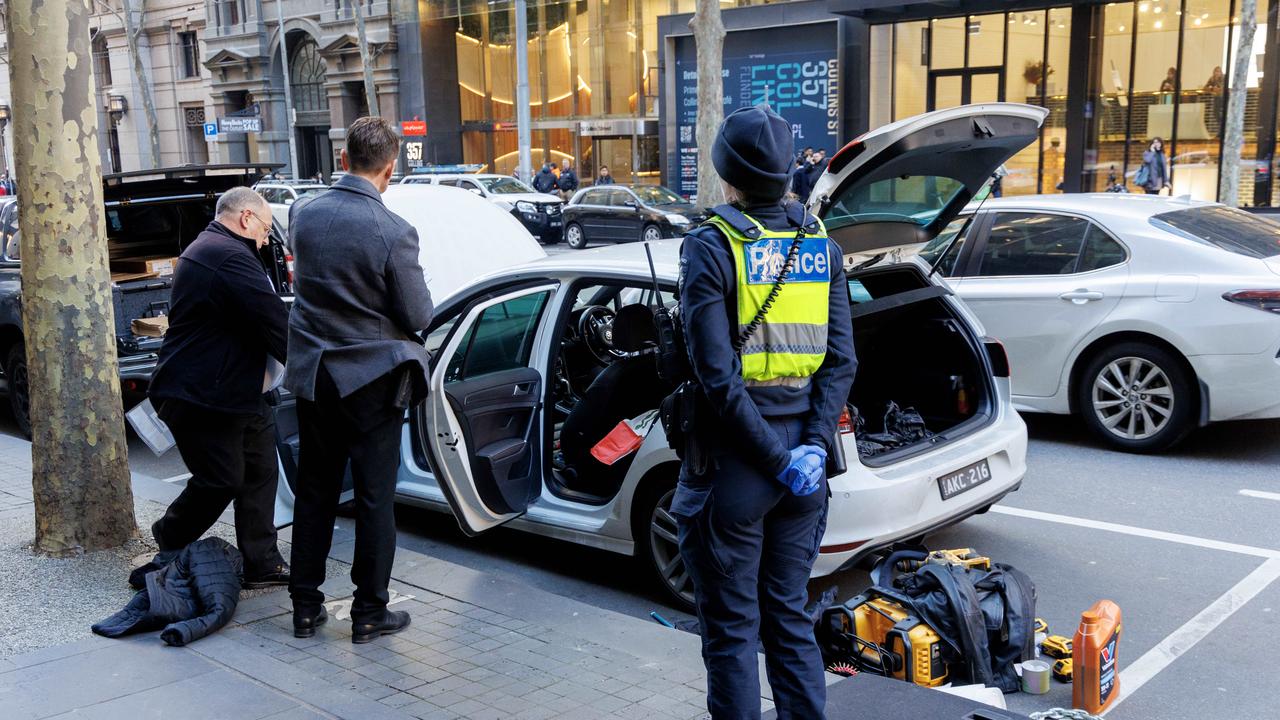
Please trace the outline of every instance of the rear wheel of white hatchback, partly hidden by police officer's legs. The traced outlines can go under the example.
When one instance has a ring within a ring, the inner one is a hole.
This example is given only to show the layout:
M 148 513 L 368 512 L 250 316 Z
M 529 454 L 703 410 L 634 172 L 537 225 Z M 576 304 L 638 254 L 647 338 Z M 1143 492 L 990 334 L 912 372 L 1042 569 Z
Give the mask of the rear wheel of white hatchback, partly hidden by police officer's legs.
M 667 601 L 678 610 L 692 612 L 694 580 L 680 556 L 676 518 L 671 514 L 671 498 L 675 496 L 676 473 L 643 486 L 632 501 L 631 532 L 636 557 L 662 588 Z

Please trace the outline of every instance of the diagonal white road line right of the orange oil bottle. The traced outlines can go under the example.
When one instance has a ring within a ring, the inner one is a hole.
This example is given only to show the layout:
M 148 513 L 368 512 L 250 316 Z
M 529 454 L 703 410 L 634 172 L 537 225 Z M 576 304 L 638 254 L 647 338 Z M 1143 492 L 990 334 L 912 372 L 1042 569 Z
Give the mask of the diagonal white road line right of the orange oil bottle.
M 1235 587 L 1226 591 L 1201 610 L 1198 615 L 1187 621 L 1181 628 L 1174 630 L 1169 637 L 1160 641 L 1156 647 L 1148 650 L 1142 657 L 1135 660 L 1129 667 L 1120 671 L 1120 697 L 1116 698 L 1107 712 L 1115 710 L 1124 700 L 1132 696 L 1148 680 L 1155 678 L 1172 661 L 1187 653 L 1199 641 L 1204 639 L 1215 628 L 1222 624 L 1236 610 L 1244 607 L 1267 585 L 1280 578 L 1280 557 L 1272 557 L 1249 573 Z M 1103 714 L 1105 715 L 1105 714 Z

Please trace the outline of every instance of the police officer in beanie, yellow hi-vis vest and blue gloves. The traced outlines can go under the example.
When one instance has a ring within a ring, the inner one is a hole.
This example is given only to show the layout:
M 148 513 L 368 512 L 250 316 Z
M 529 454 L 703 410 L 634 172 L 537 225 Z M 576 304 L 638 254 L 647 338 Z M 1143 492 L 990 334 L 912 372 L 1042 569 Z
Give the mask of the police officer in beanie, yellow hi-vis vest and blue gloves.
M 714 410 L 698 419 L 705 470 L 686 454 L 672 514 L 714 719 L 759 717 L 762 642 L 778 717 L 823 717 L 826 705 L 804 606 L 856 361 L 842 254 L 783 202 L 794 158 L 791 126 L 768 106 L 730 114 L 712 147 L 730 202 L 681 247 L 685 341 Z

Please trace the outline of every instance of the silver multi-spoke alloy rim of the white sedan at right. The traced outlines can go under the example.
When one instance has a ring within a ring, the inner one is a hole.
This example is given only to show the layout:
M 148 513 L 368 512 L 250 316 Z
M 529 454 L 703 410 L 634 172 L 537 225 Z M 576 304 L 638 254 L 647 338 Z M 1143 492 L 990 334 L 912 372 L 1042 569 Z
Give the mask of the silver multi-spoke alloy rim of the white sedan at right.
M 1146 439 L 1169 425 L 1174 386 L 1144 357 L 1117 357 L 1093 379 L 1093 413 L 1102 427 L 1124 439 Z

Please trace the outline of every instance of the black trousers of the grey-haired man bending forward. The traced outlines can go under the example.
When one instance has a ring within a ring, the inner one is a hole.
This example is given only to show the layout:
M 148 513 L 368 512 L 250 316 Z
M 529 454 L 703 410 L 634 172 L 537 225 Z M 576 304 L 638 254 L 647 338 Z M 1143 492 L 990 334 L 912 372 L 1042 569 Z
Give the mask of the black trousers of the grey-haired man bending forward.
M 182 550 L 200 539 L 233 505 L 244 577 L 275 571 L 284 557 L 275 544 L 279 466 L 266 401 L 253 415 L 216 413 L 182 400 L 164 400 L 156 413 L 191 470 L 186 489 L 151 525 L 160 550 Z

